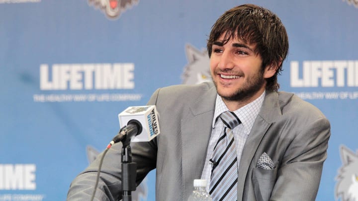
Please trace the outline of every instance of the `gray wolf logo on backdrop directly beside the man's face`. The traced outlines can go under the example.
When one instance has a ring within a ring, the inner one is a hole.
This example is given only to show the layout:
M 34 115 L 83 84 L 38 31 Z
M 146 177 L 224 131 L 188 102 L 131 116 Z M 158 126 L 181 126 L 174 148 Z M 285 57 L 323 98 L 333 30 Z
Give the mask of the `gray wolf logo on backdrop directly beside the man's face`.
M 206 50 L 199 51 L 187 44 L 185 53 L 188 64 L 184 67 L 184 72 L 181 75 L 182 83 L 197 84 L 211 81 L 210 60 Z

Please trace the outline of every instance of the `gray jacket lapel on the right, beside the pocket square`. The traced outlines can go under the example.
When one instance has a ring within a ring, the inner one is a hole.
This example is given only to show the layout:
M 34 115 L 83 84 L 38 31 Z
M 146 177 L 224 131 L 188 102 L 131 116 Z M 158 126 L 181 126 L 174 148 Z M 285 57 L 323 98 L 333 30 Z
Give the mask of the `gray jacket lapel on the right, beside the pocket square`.
M 271 124 L 274 123 L 279 116 L 281 116 L 281 111 L 278 103 L 278 95 L 275 92 L 267 92 L 241 155 L 238 173 L 238 201 L 242 200 L 246 176 L 256 150 Z

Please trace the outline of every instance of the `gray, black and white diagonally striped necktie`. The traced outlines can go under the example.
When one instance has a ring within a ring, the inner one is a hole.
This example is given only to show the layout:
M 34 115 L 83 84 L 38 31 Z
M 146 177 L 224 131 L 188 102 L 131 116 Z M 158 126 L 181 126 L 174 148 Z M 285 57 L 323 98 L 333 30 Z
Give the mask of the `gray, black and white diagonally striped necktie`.
M 213 201 L 237 200 L 237 155 L 232 129 L 241 124 L 235 113 L 226 111 L 220 115 L 224 129 L 214 147 L 210 196 Z

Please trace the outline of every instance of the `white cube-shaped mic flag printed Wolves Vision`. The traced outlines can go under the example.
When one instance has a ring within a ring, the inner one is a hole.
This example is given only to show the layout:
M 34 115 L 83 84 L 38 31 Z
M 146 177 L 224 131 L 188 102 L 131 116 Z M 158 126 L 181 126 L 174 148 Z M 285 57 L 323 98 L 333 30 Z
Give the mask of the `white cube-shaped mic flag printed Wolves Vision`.
M 150 141 L 160 134 L 158 112 L 155 105 L 128 107 L 118 115 L 120 127 L 124 127 L 131 120 L 141 123 L 143 130 L 132 137 L 131 141 Z

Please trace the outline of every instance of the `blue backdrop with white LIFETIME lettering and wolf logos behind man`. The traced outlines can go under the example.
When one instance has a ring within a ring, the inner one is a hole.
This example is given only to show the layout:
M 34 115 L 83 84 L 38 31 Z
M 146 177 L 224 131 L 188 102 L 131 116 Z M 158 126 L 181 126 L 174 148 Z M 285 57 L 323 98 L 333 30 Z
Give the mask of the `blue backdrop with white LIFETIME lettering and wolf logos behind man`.
M 65 200 L 121 111 L 210 80 L 210 28 L 243 3 L 287 29 L 280 90 L 331 121 L 317 201 L 358 200 L 357 0 L 0 0 L 0 201 Z M 138 190 L 155 200 L 155 171 Z

